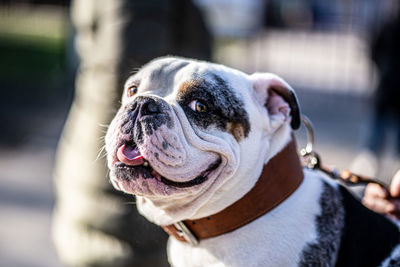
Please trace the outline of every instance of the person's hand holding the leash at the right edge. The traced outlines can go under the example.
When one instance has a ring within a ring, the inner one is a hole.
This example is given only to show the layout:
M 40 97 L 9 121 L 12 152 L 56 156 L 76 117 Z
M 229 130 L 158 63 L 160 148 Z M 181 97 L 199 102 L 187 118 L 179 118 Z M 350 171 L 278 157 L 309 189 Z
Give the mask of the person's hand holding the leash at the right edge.
M 390 192 L 377 184 L 368 184 L 362 203 L 369 209 L 400 220 L 400 170 L 394 175 Z

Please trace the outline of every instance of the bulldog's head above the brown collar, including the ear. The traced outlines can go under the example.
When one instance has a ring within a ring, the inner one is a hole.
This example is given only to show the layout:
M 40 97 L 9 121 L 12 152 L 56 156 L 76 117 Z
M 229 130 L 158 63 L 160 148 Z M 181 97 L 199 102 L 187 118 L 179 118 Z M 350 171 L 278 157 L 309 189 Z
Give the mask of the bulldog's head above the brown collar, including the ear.
M 212 214 L 250 190 L 299 123 L 275 75 L 156 59 L 125 84 L 106 136 L 110 179 L 157 223 Z

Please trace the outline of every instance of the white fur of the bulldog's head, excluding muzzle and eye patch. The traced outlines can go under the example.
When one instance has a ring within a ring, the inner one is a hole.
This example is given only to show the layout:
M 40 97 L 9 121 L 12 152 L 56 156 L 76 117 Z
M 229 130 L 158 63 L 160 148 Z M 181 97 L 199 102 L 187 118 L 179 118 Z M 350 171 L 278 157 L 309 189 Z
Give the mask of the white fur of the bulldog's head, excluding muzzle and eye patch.
M 158 59 L 149 63 L 149 65 L 157 67 L 157 65 L 172 60 L 176 59 Z M 189 65 L 176 73 L 173 86 L 163 88 L 163 99 L 173 108 L 171 113 L 174 122 L 180 125 L 183 131 L 180 136 L 186 138 L 186 140 L 182 143 L 187 142 L 199 150 L 214 151 L 214 153 L 220 154 L 226 166 L 217 173 L 219 177 L 210 177 L 207 181 L 208 184 L 201 185 L 203 188 L 200 187 L 196 195 L 193 195 L 193 192 L 186 193 L 186 195 L 185 192 L 178 192 L 168 197 L 158 195 L 137 196 L 137 206 L 140 213 L 159 225 L 171 224 L 188 218 L 205 217 L 221 211 L 240 199 L 254 186 L 264 163 L 280 151 L 290 139 L 290 118 L 287 117 L 287 114 L 278 112 L 270 115 L 265 108 L 269 83 L 281 81 L 279 77 L 267 73 L 249 76 L 218 64 L 194 60 L 189 62 Z M 145 68 L 143 72 L 146 74 L 147 71 L 151 70 L 152 68 L 150 70 Z M 235 89 L 235 94 L 243 100 L 245 109 L 249 114 L 251 131 L 247 138 L 238 143 L 230 133 L 225 131 L 212 127 L 203 131 L 190 125 L 182 108 L 176 102 L 176 97 L 180 84 L 187 81 L 194 71 L 197 73 L 212 71 Z M 150 88 L 143 95 L 157 95 L 157 92 L 152 90 L 152 82 L 154 81 L 149 79 L 144 79 L 141 82 L 141 88 Z M 130 101 L 132 100 L 124 94 L 121 110 Z M 115 157 L 115 153 L 113 153 L 115 140 L 121 138 L 118 136 L 118 131 L 115 130 L 120 127 L 119 124 L 117 115 L 106 136 L 110 168 L 113 167 L 112 164 L 115 162 L 113 159 Z M 196 161 L 192 160 L 192 162 Z M 162 170 L 160 172 L 162 173 Z M 111 181 L 115 187 L 124 190 L 118 180 L 111 177 Z

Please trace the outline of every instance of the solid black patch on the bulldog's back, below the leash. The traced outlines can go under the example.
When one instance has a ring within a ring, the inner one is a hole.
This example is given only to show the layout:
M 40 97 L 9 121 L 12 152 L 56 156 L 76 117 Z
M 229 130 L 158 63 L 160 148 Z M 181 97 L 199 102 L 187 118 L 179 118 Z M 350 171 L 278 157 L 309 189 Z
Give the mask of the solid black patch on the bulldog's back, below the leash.
M 356 200 L 345 188 L 340 191 L 345 208 L 345 225 L 336 266 L 379 266 L 400 242 L 397 226 Z M 400 266 L 394 259 L 389 266 Z

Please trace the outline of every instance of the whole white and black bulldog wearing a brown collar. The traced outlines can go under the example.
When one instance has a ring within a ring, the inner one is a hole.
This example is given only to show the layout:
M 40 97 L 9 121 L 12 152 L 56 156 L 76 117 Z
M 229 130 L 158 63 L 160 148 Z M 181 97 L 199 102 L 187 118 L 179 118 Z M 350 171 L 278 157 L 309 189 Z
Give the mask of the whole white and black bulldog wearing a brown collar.
M 155 59 L 107 131 L 110 180 L 172 235 L 172 266 L 400 266 L 394 222 L 299 167 L 299 124 L 274 74 Z

